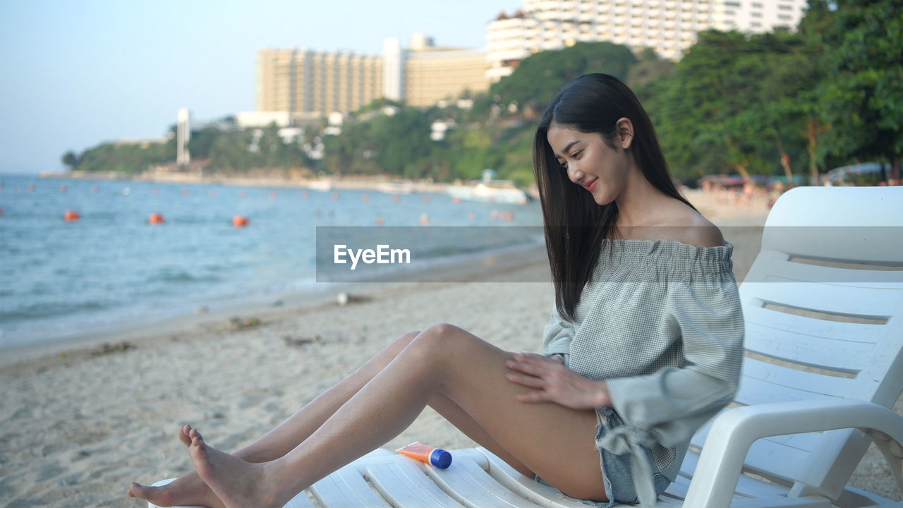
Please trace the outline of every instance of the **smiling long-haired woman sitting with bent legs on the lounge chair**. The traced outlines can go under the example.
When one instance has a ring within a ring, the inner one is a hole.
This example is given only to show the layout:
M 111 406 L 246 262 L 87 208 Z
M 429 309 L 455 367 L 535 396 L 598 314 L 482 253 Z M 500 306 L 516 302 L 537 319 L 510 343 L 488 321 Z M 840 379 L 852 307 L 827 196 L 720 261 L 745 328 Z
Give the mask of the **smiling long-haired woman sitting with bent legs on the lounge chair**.
M 582 76 L 553 99 L 533 156 L 555 292 L 543 354 L 452 325 L 404 334 L 232 455 L 183 426 L 195 472 L 128 494 L 283 506 L 430 406 L 563 494 L 654 503 L 694 431 L 737 389 L 733 247 L 677 193 L 646 111 L 612 76 Z

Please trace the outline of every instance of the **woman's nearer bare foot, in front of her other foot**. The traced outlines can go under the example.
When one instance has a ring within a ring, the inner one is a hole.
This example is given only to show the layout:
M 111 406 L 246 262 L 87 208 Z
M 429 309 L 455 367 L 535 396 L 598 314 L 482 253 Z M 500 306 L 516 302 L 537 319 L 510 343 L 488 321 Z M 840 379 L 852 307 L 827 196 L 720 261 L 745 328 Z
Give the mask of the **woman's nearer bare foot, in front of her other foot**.
M 265 464 L 251 464 L 209 447 L 196 428 L 191 428 L 188 436 L 191 437 L 188 455 L 195 471 L 226 508 L 279 508 L 288 501 L 286 499 L 280 503 L 277 491 L 282 489 L 271 484 Z

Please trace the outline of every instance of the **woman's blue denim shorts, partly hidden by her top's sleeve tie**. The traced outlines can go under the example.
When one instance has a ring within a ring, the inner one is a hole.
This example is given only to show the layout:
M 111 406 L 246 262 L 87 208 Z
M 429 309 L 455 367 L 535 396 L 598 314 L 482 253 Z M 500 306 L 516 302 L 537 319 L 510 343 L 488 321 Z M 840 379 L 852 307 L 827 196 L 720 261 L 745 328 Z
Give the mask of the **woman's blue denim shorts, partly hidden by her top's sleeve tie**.
M 596 409 L 596 418 L 599 420 L 599 424 L 596 426 L 596 439 L 605 436 L 612 428 L 624 425 L 618 413 L 611 408 Z M 656 462 L 652 459 L 652 452 L 647 449 L 646 453 L 648 454 L 649 464 L 652 465 L 652 482 L 655 484 L 656 494 L 662 494 L 668 488 L 668 485 L 671 484 L 671 480 L 658 470 Z M 609 508 L 619 503 L 637 503 L 637 490 L 633 486 L 633 475 L 630 474 L 630 463 L 633 460 L 633 456 L 630 454 L 615 455 L 603 449 L 599 450 L 599 454 L 602 475 L 604 476 L 603 481 L 605 482 L 605 494 L 608 496 L 609 502 L 586 501 L 565 494 L 562 495 L 574 501 L 598 506 L 599 508 Z M 536 476 L 536 480 L 541 484 L 549 485 L 539 476 Z M 554 487 L 554 485 L 549 486 Z

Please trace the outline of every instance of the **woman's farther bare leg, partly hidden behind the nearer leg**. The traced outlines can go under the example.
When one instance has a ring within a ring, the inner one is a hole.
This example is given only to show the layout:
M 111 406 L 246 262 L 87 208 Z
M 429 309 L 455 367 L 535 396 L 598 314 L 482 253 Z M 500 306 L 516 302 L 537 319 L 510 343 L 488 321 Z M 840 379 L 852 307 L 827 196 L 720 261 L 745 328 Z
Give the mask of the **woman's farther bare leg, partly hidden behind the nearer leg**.
M 410 332 L 401 335 L 368 362 L 361 365 L 355 372 L 352 372 L 347 378 L 332 386 L 330 390 L 323 392 L 319 397 L 295 412 L 288 419 L 285 419 L 283 423 L 267 432 L 263 437 L 258 438 L 254 443 L 238 450 L 233 455 L 251 463 L 268 462 L 284 456 L 309 437 L 314 430 L 320 428 L 323 422 L 329 419 L 342 404 L 382 371 L 389 362 L 394 360 L 398 353 L 401 353 L 407 344 L 419 333 Z M 471 439 L 483 447 L 487 447 L 499 458 L 506 460 L 508 464 L 522 472 L 526 470 L 522 464 L 517 462 L 514 456 L 507 453 L 507 450 L 492 442 L 491 438 L 479 428 L 476 422 L 470 419 L 470 416 L 454 402 L 443 395 L 437 395 L 430 401 L 430 406 L 436 409 L 442 417 L 460 428 Z M 190 431 L 190 426 L 183 425 L 177 433 L 177 436 L 186 447 L 191 445 Z M 182 477 L 170 484 L 160 487 L 133 483 L 128 489 L 128 494 L 132 497 L 146 499 L 158 506 L 199 505 L 213 508 L 223 506 L 216 494 L 210 491 L 209 486 L 194 471 L 182 475 Z

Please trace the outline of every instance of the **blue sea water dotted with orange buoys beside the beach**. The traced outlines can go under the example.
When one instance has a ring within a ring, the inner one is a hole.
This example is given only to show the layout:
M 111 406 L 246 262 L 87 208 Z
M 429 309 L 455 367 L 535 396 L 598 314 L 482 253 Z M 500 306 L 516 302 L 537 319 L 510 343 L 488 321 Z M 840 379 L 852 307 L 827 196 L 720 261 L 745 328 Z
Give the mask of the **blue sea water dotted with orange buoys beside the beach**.
M 418 255 L 440 264 L 498 249 L 488 241 L 498 235 L 442 243 L 447 235 L 425 234 L 434 226 L 530 226 L 512 229 L 524 232 L 505 244 L 541 242 L 536 202 L 20 175 L 0 176 L 0 184 L 0 348 L 315 291 L 318 226 L 428 221 Z M 65 221 L 68 210 L 79 220 Z M 163 224 L 149 223 L 153 213 Z M 236 215 L 247 227 L 233 226 Z

